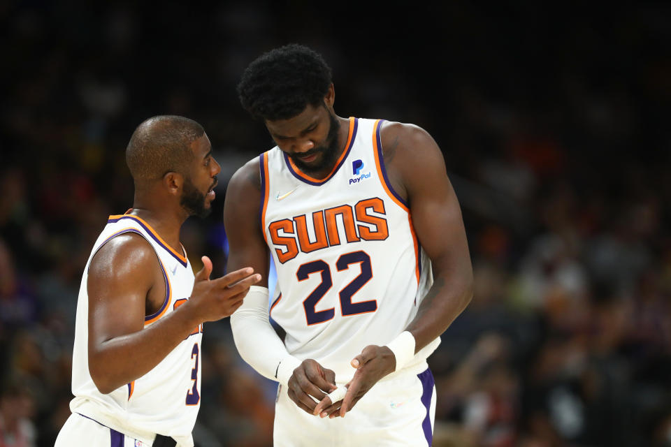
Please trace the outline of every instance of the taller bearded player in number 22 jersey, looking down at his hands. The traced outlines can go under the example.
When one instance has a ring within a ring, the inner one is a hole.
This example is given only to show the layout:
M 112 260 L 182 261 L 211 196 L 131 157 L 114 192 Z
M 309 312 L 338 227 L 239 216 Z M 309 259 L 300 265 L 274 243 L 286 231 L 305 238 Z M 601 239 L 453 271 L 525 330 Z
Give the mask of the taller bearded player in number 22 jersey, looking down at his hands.
M 440 148 L 412 124 L 335 115 L 331 68 L 302 45 L 261 55 L 238 93 L 276 143 L 224 203 L 229 267 L 277 270 L 275 295 L 264 277 L 231 316 L 240 355 L 280 383 L 275 446 L 430 446 L 426 358 L 472 296 Z

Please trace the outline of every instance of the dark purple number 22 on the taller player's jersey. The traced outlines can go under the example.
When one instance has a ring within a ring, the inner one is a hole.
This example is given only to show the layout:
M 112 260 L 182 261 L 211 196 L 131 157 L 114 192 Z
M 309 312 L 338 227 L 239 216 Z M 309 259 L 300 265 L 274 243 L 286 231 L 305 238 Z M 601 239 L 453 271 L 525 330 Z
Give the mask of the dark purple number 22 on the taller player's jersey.
M 377 310 L 376 300 L 352 302 L 354 293 L 361 290 L 361 288 L 370 281 L 370 278 L 373 277 L 373 269 L 370 267 L 370 256 L 368 256 L 365 251 L 354 251 L 352 253 L 343 254 L 338 258 L 338 261 L 335 262 L 335 268 L 338 269 L 338 272 L 342 272 L 343 270 L 349 269 L 349 266 L 352 264 L 359 264 L 361 273 L 340 291 L 340 310 L 342 316 L 375 312 Z M 315 310 L 315 306 L 317 306 L 319 300 L 322 300 L 324 295 L 326 295 L 326 292 L 333 287 L 333 279 L 331 279 L 331 268 L 329 268 L 329 264 L 321 259 L 319 261 L 303 264 L 298 268 L 296 277 L 298 278 L 298 281 L 305 281 L 305 279 L 308 279 L 310 275 L 314 273 L 320 273 L 322 275 L 322 282 L 314 291 L 312 291 L 312 293 L 310 293 L 310 295 L 308 295 L 308 298 L 305 298 L 303 301 L 305 320 L 308 322 L 308 325 L 324 323 L 324 321 L 331 320 L 335 315 L 335 309 L 333 307 L 326 310 Z

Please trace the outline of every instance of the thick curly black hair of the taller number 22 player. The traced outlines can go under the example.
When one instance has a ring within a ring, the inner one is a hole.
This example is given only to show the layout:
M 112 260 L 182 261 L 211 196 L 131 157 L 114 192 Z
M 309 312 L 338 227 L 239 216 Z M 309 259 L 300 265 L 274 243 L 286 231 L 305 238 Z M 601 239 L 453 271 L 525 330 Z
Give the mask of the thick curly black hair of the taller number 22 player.
M 254 60 L 238 84 L 238 96 L 254 119 L 289 119 L 308 104 L 322 104 L 331 82 L 331 67 L 319 53 L 291 43 Z

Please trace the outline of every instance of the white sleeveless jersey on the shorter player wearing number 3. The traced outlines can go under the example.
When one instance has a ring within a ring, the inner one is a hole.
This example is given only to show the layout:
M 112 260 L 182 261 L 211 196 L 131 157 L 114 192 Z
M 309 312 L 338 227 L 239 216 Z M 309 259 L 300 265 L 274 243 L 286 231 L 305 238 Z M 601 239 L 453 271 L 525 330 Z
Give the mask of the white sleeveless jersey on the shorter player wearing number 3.
M 158 312 L 145 317 L 145 328 L 184 304 L 192 293 L 194 273 L 185 254 L 171 249 L 142 219 L 128 214 L 110 216 L 94 244 L 80 286 L 72 367 L 75 398 L 70 409 L 149 445 L 154 434 L 164 434 L 179 446 L 193 446 L 192 430 L 200 406 L 202 324 L 150 372 L 112 393 L 100 393 L 89 374 L 89 264 L 103 244 L 124 233 L 141 235 L 152 245 L 166 281 L 165 302 Z

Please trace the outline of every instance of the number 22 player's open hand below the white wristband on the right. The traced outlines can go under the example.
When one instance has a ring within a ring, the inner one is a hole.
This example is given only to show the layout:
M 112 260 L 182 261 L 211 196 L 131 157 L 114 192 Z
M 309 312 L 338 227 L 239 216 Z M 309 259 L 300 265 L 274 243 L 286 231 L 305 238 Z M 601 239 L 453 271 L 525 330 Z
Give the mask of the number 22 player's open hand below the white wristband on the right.
M 329 416 L 329 418 L 344 417 L 345 413 L 351 410 L 356 402 L 359 402 L 359 399 L 368 393 L 370 388 L 373 388 L 375 383 L 387 374 L 394 372 L 396 357 L 387 346 L 371 344 L 363 348 L 361 354 L 353 358 L 350 364 L 356 368 L 356 372 L 352 381 L 349 381 L 346 385 L 345 398 L 338 402 L 331 402 L 330 397 L 324 397 L 315 406 L 314 414 L 318 414 L 322 418 L 326 416 Z

